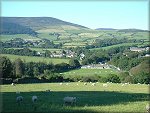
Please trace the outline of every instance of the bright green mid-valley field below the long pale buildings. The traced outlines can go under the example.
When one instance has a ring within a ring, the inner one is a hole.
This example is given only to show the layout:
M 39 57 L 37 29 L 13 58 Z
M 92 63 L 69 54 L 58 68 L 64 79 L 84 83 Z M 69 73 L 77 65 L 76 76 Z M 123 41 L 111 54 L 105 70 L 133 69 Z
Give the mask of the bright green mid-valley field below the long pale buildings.
M 64 72 L 63 75 L 65 77 L 68 76 L 107 76 L 109 74 L 118 74 L 119 72 L 117 70 L 113 69 L 77 69 L 77 70 L 71 70 L 68 72 Z

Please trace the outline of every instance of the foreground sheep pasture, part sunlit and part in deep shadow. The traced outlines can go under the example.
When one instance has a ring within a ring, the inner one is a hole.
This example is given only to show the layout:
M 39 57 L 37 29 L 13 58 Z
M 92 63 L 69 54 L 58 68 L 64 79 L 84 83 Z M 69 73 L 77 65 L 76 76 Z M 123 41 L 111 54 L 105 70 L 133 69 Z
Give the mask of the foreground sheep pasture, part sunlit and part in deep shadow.
M 145 106 L 149 99 L 148 85 L 102 83 L 84 85 L 74 83 L 40 83 L 1 85 L 2 112 L 51 112 L 51 113 L 146 113 Z M 50 89 L 51 92 L 46 92 Z M 20 94 L 16 94 L 19 91 Z M 23 96 L 23 102 L 18 105 L 16 97 Z M 32 103 L 31 97 L 38 96 L 38 101 Z M 77 98 L 76 105 L 63 105 L 63 98 Z

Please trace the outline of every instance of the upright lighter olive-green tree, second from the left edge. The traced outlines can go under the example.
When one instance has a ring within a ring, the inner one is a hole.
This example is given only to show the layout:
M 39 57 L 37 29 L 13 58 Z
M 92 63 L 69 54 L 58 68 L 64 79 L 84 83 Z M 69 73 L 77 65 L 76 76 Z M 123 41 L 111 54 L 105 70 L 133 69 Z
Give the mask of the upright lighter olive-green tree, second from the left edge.
M 15 74 L 16 77 L 24 75 L 24 63 L 20 58 L 15 60 Z

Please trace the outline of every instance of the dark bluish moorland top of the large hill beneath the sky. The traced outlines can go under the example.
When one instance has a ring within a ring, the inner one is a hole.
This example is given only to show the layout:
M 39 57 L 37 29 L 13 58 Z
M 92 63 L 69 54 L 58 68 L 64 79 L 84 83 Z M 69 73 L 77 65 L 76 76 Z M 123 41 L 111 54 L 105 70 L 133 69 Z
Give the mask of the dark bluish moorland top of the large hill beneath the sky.
M 48 26 L 69 25 L 80 28 L 87 28 L 78 24 L 62 21 L 52 17 L 1 17 L 1 22 L 15 23 L 32 29 L 41 29 Z

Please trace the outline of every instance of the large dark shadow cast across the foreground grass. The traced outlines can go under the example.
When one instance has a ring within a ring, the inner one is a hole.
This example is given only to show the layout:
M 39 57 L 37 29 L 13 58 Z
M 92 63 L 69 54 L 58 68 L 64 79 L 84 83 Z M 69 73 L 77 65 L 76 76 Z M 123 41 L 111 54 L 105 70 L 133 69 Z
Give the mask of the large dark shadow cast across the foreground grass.
M 96 112 L 88 107 L 149 100 L 149 94 L 109 91 L 21 92 L 20 94 L 4 92 L 2 95 L 2 112 L 108 113 L 106 111 Z M 15 100 L 18 95 L 24 97 L 20 106 Z M 33 95 L 38 96 L 38 101 L 35 104 L 31 101 Z M 66 96 L 76 97 L 76 105 L 64 106 L 63 98 Z

